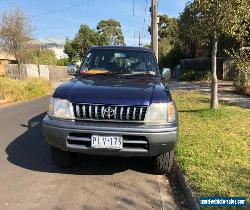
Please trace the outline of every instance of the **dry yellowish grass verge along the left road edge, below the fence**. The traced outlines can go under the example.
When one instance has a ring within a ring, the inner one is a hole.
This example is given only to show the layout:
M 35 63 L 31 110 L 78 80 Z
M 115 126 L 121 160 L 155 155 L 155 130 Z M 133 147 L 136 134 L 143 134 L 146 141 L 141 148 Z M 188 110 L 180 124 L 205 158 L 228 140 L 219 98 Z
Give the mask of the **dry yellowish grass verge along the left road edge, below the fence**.
M 50 83 L 42 78 L 15 80 L 0 77 L 0 98 L 5 102 L 26 101 L 51 93 Z

